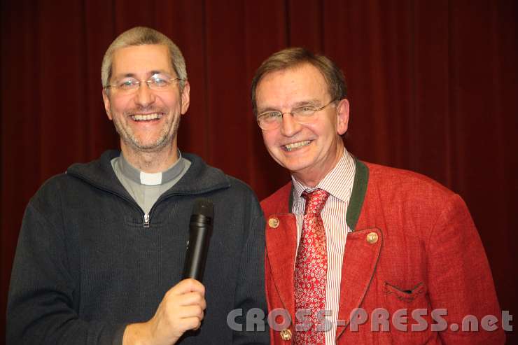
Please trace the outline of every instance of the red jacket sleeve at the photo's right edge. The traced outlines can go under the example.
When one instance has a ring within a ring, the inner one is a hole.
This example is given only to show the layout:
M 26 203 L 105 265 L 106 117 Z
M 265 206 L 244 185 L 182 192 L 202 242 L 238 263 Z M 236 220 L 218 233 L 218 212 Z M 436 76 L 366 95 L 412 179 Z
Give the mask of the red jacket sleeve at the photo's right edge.
M 430 234 L 428 285 L 433 309 L 447 309 L 442 316 L 448 328 L 440 332 L 443 344 L 504 344 L 505 334 L 484 330 L 484 316 L 501 321 L 500 307 L 482 241 L 461 197 L 451 195 Z M 478 330 L 463 332 L 466 316 L 475 316 Z M 451 330 L 452 324 L 458 330 Z

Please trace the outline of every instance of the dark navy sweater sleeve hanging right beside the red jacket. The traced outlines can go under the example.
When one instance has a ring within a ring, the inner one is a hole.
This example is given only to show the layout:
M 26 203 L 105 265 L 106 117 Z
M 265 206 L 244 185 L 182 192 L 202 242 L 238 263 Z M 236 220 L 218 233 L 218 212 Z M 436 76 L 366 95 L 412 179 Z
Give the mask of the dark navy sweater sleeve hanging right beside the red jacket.
M 255 202 L 257 204 L 257 202 Z M 235 308 L 241 309 L 241 317 L 235 322 L 242 325 L 242 331 L 233 332 L 232 344 L 269 344 L 269 328 L 267 324 L 267 307 L 265 300 L 265 220 L 258 204 L 254 211 L 250 229 L 241 251 L 239 279 L 237 283 Z M 260 309 L 260 310 L 258 310 Z M 246 322 L 246 315 L 257 315 L 259 327 L 253 322 Z M 252 329 L 247 330 L 248 327 Z

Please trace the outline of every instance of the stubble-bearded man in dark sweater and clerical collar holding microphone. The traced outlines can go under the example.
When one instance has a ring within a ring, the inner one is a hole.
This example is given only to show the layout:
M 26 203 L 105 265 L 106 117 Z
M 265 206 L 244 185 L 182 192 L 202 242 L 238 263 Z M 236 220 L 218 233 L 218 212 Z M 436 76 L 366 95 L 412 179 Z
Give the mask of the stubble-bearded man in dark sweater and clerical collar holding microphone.
M 253 192 L 177 147 L 186 64 L 153 29 L 118 36 L 102 62 L 120 152 L 50 178 L 25 212 L 8 344 L 266 344 L 233 309 L 265 309 L 264 220 Z M 214 203 L 203 284 L 181 279 L 195 199 Z M 203 321 L 203 323 L 202 323 Z

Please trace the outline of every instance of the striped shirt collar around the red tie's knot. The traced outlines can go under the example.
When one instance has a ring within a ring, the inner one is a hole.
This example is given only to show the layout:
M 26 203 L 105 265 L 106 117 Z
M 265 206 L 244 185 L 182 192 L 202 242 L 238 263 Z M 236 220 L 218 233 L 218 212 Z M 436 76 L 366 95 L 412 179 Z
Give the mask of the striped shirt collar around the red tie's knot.
M 307 185 L 300 183 L 292 175 L 293 211 L 297 210 L 304 212 L 303 206 L 305 205 L 305 201 L 302 198 L 302 192 L 304 192 L 304 190 L 309 192 L 316 188 L 325 190 L 330 194 L 330 196 L 335 197 L 342 202 L 349 202 L 349 199 L 351 198 L 351 190 L 353 188 L 354 171 L 354 158 L 344 148 L 344 153 L 335 167 L 332 168 L 314 188 L 307 187 Z

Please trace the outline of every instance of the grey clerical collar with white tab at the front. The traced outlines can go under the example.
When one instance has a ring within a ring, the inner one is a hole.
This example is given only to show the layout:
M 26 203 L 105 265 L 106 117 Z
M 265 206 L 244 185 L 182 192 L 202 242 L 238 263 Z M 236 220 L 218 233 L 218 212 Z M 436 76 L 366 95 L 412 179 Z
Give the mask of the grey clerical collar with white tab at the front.
M 178 150 L 178 160 L 172 165 L 172 167 L 159 173 L 149 174 L 144 171 L 140 171 L 126 160 L 123 153 L 120 153 L 117 164 L 120 172 L 126 178 L 140 183 L 141 185 L 161 185 L 172 181 L 181 174 L 185 167 L 185 162 L 181 156 L 180 150 Z

